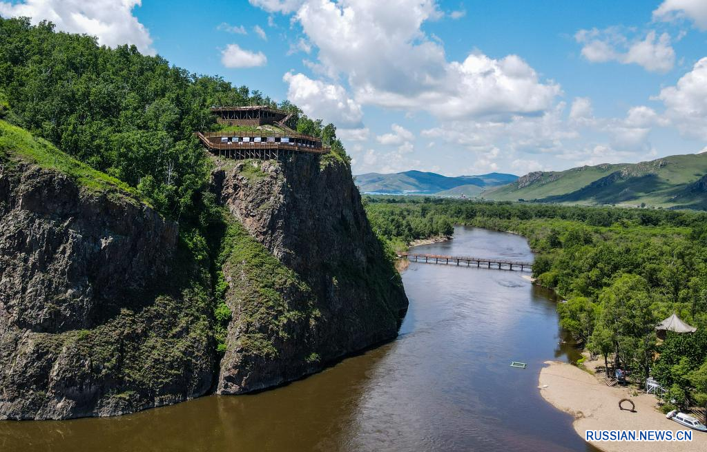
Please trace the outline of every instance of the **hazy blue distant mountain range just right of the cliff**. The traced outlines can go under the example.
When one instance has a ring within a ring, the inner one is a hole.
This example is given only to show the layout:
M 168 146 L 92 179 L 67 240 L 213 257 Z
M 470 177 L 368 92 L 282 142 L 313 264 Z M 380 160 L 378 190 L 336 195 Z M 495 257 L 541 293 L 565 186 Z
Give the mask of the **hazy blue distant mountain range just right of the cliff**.
M 517 179 L 518 176 L 503 173 L 448 177 L 423 171 L 404 171 L 392 174 L 360 174 L 356 176 L 356 185 L 362 193 L 461 197 L 478 196 L 488 188 L 505 185 Z

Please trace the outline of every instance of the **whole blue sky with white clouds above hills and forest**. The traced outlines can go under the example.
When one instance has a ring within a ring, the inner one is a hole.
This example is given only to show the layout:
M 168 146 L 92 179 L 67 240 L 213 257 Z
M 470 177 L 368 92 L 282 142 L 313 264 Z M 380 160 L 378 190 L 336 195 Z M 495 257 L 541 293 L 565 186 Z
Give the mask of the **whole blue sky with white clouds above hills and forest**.
M 0 1 L 337 125 L 354 173 L 707 149 L 707 1 Z

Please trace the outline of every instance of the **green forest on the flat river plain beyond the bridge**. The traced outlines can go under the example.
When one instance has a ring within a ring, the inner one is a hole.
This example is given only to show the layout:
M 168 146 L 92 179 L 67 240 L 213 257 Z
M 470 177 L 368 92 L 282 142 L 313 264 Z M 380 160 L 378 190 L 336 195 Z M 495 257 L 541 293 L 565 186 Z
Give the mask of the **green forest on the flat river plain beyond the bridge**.
M 450 235 L 450 224 L 513 231 L 536 253 L 536 282 L 554 289 L 563 329 L 632 379 L 652 376 L 665 410 L 707 404 L 707 213 L 569 207 L 430 197 L 366 197 L 390 248 Z M 676 313 L 694 334 L 655 325 Z

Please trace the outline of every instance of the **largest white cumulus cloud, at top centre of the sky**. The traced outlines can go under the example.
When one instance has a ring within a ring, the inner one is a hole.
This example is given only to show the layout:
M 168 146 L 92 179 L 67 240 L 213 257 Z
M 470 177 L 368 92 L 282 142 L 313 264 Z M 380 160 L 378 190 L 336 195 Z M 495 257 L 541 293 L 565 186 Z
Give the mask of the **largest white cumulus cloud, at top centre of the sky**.
M 519 56 L 480 53 L 448 61 L 422 30 L 440 12 L 432 0 L 303 1 L 294 15 L 317 47 L 317 73 L 344 75 L 361 104 L 430 111 L 442 118 L 536 115 L 560 93 Z

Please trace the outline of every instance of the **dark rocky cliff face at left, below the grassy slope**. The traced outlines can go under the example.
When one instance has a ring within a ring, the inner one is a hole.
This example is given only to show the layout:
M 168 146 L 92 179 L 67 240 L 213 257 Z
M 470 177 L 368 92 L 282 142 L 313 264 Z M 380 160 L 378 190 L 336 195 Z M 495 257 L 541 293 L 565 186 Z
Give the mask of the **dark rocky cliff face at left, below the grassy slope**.
M 171 286 L 190 271 L 175 259 L 177 225 L 150 207 L 0 161 L 0 419 L 115 415 L 208 391 L 209 300 Z

